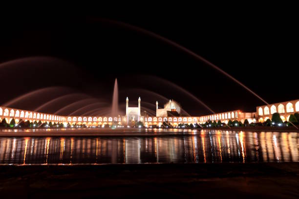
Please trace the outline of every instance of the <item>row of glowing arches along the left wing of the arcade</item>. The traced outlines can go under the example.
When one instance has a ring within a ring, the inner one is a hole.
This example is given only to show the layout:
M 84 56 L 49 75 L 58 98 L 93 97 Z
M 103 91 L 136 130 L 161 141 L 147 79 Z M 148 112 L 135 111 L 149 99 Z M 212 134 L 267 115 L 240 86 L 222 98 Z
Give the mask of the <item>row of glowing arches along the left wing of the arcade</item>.
M 64 117 L 49 115 L 43 113 L 36 113 L 30 111 L 20 111 L 14 109 L 4 108 L 4 110 L 0 107 L 0 116 L 10 117 L 10 118 L 21 118 L 21 119 L 43 119 L 43 120 L 53 120 L 53 121 L 64 121 Z

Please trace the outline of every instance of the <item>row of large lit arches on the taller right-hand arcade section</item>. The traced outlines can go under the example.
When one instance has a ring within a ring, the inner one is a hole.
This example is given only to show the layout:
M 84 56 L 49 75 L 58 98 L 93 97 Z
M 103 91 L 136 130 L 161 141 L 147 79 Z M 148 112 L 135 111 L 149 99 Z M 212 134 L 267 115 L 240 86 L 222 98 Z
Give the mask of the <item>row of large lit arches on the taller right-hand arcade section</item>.
M 286 108 L 286 109 L 285 109 Z M 286 104 L 284 108 L 284 105 L 282 103 L 280 103 L 278 105 L 278 107 L 276 107 L 275 105 L 272 105 L 270 107 L 270 110 L 269 110 L 269 107 L 268 106 L 265 106 L 264 108 L 262 107 L 259 107 L 258 108 L 258 115 L 259 116 L 263 116 L 263 115 L 272 115 L 274 113 L 293 113 L 294 112 L 294 104 L 292 102 L 288 102 Z M 299 112 L 299 101 L 297 101 L 295 103 L 295 112 Z

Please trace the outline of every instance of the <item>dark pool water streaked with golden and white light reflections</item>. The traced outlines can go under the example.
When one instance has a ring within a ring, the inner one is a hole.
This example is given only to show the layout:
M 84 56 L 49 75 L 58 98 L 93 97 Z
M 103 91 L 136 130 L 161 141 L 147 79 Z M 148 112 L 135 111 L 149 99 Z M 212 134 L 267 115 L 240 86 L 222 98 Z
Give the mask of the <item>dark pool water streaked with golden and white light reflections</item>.
M 136 137 L 0 138 L 0 164 L 299 161 L 298 133 L 200 131 Z

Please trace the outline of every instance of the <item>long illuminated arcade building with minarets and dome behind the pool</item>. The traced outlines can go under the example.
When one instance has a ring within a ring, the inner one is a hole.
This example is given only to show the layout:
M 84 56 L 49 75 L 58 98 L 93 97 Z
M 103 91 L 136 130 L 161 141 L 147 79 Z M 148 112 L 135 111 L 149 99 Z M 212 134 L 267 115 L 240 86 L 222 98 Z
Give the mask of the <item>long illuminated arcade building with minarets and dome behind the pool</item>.
M 103 126 L 105 124 L 117 124 L 122 126 L 135 126 L 136 122 L 144 123 L 146 127 L 162 126 L 163 122 L 168 125 L 176 127 L 179 124 L 202 124 L 209 120 L 228 123 L 229 120 L 238 120 L 244 122 L 245 119 L 251 122 L 264 122 L 271 119 L 274 113 L 279 113 L 282 121 L 288 121 L 291 114 L 299 113 L 299 100 L 285 101 L 274 103 L 270 105 L 257 106 L 256 112 L 242 112 L 241 110 L 232 110 L 223 113 L 215 113 L 205 116 L 181 116 L 181 106 L 174 100 L 170 100 L 164 105 L 164 108 L 158 108 L 158 101 L 156 102 L 156 116 L 141 116 L 141 99 L 138 98 L 138 107 L 128 106 L 128 97 L 126 99 L 126 115 L 118 117 L 110 116 L 60 116 L 47 113 L 40 113 L 28 110 L 21 110 L 9 107 L 0 106 L 0 121 L 3 119 L 9 123 L 15 119 L 16 123 L 29 120 L 30 122 L 42 123 L 52 122 L 68 123 L 71 125 L 86 125 L 87 127 Z

